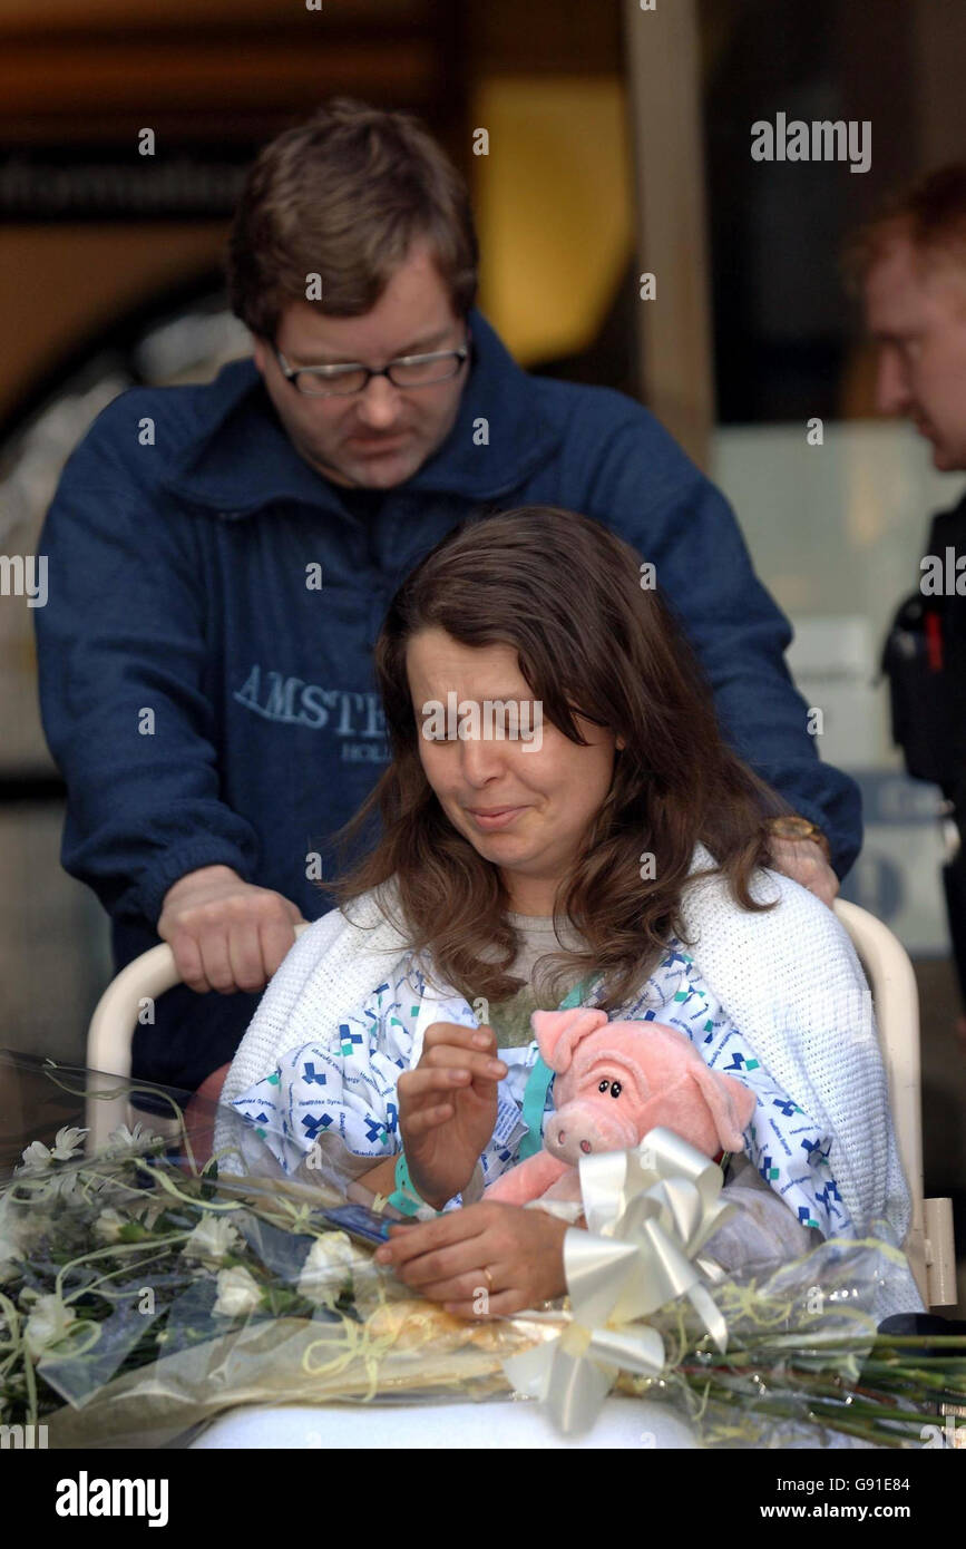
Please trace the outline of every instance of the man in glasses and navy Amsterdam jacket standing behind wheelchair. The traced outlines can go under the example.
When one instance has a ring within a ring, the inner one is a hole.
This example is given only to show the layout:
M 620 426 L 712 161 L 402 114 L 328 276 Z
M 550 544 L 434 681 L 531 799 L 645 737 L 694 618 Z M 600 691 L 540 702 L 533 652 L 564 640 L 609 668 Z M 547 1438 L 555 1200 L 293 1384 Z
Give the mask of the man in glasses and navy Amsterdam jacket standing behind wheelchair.
M 387 759 L 381 618 L 474 514 L 570 507 L 632 542 L 726 734 L 797 813 L 776 864 L 831 902 L 855 860 L 858 790 L 817 761 L 728 505 L 639 404 L 522 372 L 475 285 L 440 147 L 333 102 L 242 195 L 229 291 L 254 362 L 122 393 L 65 468 L 37 610 L 63 864 L 110 911 L 118 963 L 161 936 L 187 987 L 136 1030 L 141 1077 L 197 1086 L 231 1058 L 294 922 L 322 912 L 325 841 Z

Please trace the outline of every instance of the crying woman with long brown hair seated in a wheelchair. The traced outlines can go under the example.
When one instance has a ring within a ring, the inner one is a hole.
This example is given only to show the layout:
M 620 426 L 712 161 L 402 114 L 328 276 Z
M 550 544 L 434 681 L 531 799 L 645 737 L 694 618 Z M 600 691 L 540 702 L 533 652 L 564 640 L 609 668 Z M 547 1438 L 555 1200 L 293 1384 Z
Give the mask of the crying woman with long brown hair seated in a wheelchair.
M 478 1199 L 526 1145 L 529 1013 L 564 996 L 642 1038 L 677 1025 L 755 1092 L 738 1227 L 709 1244 L 726 1267 L 909 1225 L 851 945 L 763 869 L 783 809 L 721 740 L 646 570 L 598 524 L 528 508 L 409 576 L 376 646 L 392 764 L 348 838 L 376 813 L 382 835 L 224 1087 L 286 1173 L 447 1207 L 378 1256 L 463 1315 L 481 1289 L 492 1314 L 565 1290 L 567 1221 Z M 920 1306 L 896 1270 L 876 1312 Z

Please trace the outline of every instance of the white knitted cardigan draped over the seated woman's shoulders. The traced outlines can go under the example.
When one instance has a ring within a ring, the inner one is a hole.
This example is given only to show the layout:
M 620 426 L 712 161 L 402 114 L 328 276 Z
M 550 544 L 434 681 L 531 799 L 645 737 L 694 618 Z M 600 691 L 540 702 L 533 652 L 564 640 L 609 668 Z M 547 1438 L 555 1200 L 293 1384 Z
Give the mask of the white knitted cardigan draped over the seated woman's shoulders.
M 711 866 L 698 846 L 692 871 Z M 834 1135 L 834 1177 L 856 1228 L 886 1219 L 903 1242 L 909 1191 L 872 996 L 855 948 L 831 909 L 788 877 L 757 872 L 752 895 L 777 905 L 763 914 L 740 909 L 720 874 L 689 881 L 681 906 L 687 950 L 755 1058 Z M 384 898 L 392 912 L 392 884 Z M 286 1050 L 334 1035 L 409 950 L 375 891 L 355 900 L 348 914 L 333 909 L 316 920 L 285 957 L 238 1046 L 223 1103 L 274 1070 Z M 433 999 L 430 993 L 423 1024 L 433 1019 Z M 221 1121 L 215 1148 L 231 1148 L 229 1137 Z M 912 1273 L 896 1266 L 879 1292 L 876 1318 L 921 1309 Z

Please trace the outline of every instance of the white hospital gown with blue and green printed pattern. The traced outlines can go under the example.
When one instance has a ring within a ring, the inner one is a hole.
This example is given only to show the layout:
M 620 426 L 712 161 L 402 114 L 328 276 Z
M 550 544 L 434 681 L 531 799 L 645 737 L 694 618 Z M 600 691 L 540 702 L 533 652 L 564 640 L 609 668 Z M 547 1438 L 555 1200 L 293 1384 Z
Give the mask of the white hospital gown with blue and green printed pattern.
M 396 1081 L 410 1067 L 426 979 L 407 954 L 378 985 L 356 1016 L 331 1039 L 302 1044 L 282 1056 L 276 1070 L 255 1081 L 234 1108 L 252 1125 L 286 1173 L 296 1173 L 316 1143 L 344 1148 L 348 1171 L 356 1159 L 401 1151 Z M 594 994 L 585 998 L 593 1004 Z M 475 1027 L 461 996 L 440 1001 L 433 1021 Z M 664 957 L 621 1011 L 621 1021 L 659 1021 L 686 1033 L 714 1070 L 728 1072 L 752 1089 L 757 1109 L 745 1131 L 746 1156 L 762 1179 L 785 1200 L 803 1227 L 822 1236 L 850 1230 L 848 1213 L 831 1174 L 831 1135 L 783 1092 L 701 981 L 694 959 L 672 942 Z M 641 1029 L 642 1036 L 644 1029 Z M 494 1137 L 480 1157 L 485 1182 L 514 1166 L 526 1125 L 522 1117 L 526 1080 L 537 1060 L 536 1039 L 500 1049 L 509 1066 L 498 1087 Z M 543 1120 L 553 1111 L 553 1084 Z M 458 1196 L 450 1205 L 458 1204 Z M 450 1208 L 450 1207 L 447 1207 Z

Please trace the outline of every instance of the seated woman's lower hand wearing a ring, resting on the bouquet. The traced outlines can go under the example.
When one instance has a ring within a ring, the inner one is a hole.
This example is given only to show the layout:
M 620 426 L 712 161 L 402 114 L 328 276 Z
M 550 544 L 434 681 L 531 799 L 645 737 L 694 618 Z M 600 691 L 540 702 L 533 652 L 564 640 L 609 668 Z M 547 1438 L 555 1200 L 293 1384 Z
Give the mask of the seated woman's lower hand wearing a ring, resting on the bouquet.
M 376 1259 L 463 1318 L 523 1312 L 567 1292 L 565 1221 L 497 1200 L 390 1227 Z

